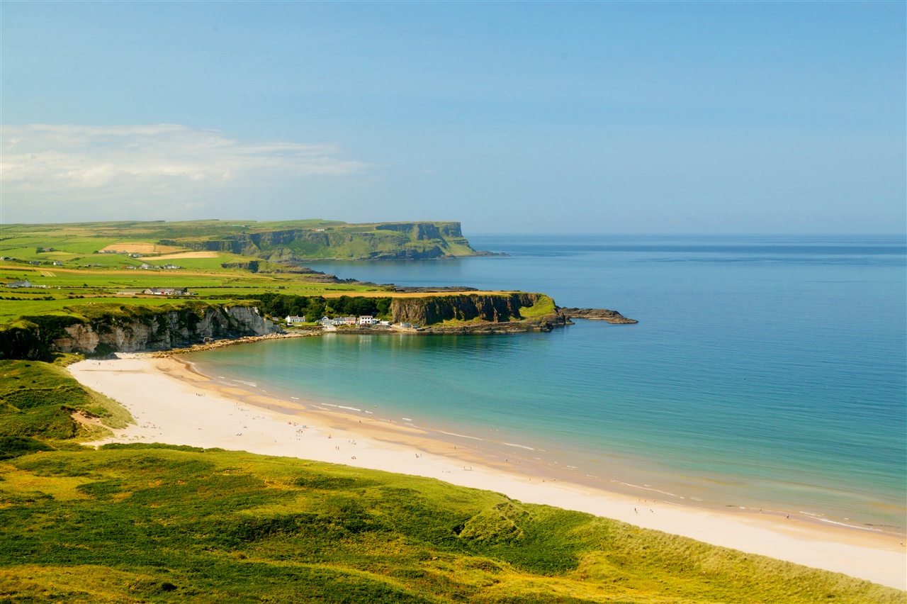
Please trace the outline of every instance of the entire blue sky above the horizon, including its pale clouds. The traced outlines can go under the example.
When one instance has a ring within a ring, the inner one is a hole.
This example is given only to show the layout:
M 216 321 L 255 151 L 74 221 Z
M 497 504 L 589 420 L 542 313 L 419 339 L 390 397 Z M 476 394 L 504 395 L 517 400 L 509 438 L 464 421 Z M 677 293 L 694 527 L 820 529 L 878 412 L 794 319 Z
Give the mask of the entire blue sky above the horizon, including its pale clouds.
M 2 219 L 902 233 L 905 3 L 2 8 Z

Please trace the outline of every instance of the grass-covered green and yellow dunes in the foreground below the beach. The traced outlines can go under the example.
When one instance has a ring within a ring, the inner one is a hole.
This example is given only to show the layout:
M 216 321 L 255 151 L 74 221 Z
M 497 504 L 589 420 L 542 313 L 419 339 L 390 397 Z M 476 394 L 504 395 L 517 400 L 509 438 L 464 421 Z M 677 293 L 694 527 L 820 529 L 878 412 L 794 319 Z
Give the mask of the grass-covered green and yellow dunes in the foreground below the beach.
M 60 359 L 65 362 L 67 359 Z M 502 494 L 243 452 L 79 444 L 129 421 L 0 361 L 0 602 L 903 602 L 904 592 Z

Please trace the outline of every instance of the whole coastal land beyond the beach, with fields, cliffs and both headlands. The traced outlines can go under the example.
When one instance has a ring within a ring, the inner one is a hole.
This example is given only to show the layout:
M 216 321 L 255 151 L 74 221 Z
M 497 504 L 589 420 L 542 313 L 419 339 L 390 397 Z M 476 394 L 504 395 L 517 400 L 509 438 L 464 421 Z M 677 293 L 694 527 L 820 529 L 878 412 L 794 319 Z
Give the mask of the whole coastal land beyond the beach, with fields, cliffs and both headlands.
M 243 337 L 512 334 L 570 317 L 543 293 L 395 287 L 309 259 L 487 255 L 459 222 L 97 222 L 0 227 L 0 359 L 171 350 Z

